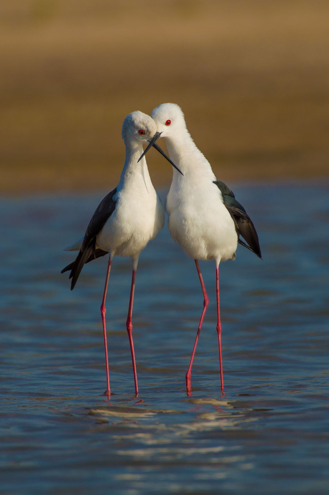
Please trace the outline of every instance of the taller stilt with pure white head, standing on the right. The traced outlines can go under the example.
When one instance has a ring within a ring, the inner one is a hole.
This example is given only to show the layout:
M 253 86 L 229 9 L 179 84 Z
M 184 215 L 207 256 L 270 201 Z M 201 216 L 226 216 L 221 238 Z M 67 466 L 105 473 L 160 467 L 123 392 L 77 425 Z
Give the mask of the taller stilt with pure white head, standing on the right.
M 237 243 L 261 257 L 256 229 L 233 192 L 216 180 L 210 163 L 196 147 L 186 127 L 181 108 L 164 103 L 154 108 L 151 117 L 157 131 L 165 139 L 170 158 L 183 175 L 173 171 L 173 181 L 166 200 L 168 228 L 172 238 L 194 259 L 203 292 L 203 311 L 186 374 L 188 393 L 191 390 L 191 368 L 195 349 L 209 299 L 204 287 L 198 260 L 214 260 L 216 266 L 217 333 L 221 389 L 224 391 L 221 320 L 219 311 L 219 263 L 235 259 Z M 159 150 L 157 144 L 153 145 Z M 239 236 L 243 237 L 245 244 Z

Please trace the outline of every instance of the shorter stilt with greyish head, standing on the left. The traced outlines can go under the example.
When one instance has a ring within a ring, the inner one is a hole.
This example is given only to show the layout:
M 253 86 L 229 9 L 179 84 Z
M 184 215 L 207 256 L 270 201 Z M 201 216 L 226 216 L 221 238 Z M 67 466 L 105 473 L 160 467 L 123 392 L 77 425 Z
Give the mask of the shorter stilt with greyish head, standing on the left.
M 68 247 L 67 250 L 78 250 L 79 254 L 73 263 L 63 268 L 61 273 L 71 270 L 71 290 L 78 280 L 85 263 L 109 253 L 105 287 L 100 312 L 103 323 L 105 365 L 106 365 L 106 395 L 109 396 L 110 382 L 108 372 L 108 357 L 105 326 L 105 298 L 110 275 L 112 258 L 130 256 L 133 263 L 133 275 L 130 292 L 130 301 L 127 317 L 127 331 L 129 336 L 131 355 L 133 360 L 135 392 L 138 395 L 138 383 L 135 363 L 134 343 L 132 337 L 132 311 L 135 290 L 137 264 L 141 250 L 148 241 L 154 239 L 164 224 L 164 210 L 155 189 L 152 185 L 146 160 L 140 163 L 138 159 L 143 152 L 143 144 L 148 149 L 160 137 L 156 131 L 155 122 L 149 115 L 140 111 L 132 112 L 125 118 L 122 126 L 122 139 L 126 147 L 126 159 L 118 186 L 113 189 L 98 205 L 89 222 L 83 239 Z M 161 151 L 162 152 L 162 151 Z M 162 152 L 162 154 L 164 154 Z M 164 154 L 168 161 L 175 164 Z

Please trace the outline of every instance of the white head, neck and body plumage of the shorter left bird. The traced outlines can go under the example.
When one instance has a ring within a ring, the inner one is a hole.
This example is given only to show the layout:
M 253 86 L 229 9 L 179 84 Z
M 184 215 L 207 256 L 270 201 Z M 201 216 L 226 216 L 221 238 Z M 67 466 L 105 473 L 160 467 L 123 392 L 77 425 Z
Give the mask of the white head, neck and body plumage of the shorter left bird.
M 139 130 L 145 134 L 140 136 Z M 151 182 L 143 143 L 156 133 L 156 125 L 149 115 L 140 111 L 129 114 L 122 126 L 126 159 L 120 181 L 113 196 L 115 209 L 96 235 L 96 248 L 113 256 L 130 256 L 136 269 L 141 251 L 155 238 L 164 225 L 164 209 Z M 148 143 L 147 143 L 148 144 Z M 66 250 L 79 250 L 83 238 Z

